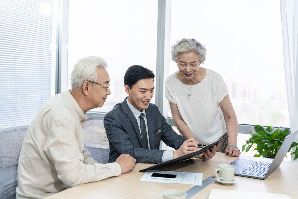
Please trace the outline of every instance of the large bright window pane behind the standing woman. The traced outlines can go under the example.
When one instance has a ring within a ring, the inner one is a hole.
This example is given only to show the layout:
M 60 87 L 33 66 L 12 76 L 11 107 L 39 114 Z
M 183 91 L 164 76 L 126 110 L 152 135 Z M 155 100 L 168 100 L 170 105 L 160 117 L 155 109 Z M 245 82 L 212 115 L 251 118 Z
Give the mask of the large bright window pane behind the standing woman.
M 184 37 L 206 46 L 201 66 L 224 78 L 239 124 L 290 126 L 279 1 L 172 1 L 170 44 Z

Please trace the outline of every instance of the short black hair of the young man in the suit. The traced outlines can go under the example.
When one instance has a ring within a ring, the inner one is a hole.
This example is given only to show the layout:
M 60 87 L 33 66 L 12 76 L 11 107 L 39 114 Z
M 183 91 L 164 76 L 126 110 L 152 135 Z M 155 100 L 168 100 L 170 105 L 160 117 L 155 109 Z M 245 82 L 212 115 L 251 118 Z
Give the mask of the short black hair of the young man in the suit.
M 152 70 L 141 65 L 133 65 L 125 72 L 124 85 L 128 85 L 131 89 L 140 79 L 152 78 L 154 81 L 154 77 Z

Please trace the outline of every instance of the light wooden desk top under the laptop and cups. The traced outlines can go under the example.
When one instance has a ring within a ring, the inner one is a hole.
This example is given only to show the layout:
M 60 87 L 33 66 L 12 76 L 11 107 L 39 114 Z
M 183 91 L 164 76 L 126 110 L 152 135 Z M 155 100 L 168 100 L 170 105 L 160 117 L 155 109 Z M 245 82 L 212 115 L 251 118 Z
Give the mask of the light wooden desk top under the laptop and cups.
M 214 176 L 215 169 L 219 164 L 230 163 L 238 157 L 228 157 L 224 153 L 217 153 L 211 160 L 203 161 L 193 158 L 187 161 L 167 165 L 164 168 L 156 170 L 172 170 L 184 172 L 203 173 L 203 180 L 209 176 Z M 255 159 L 241 155 L 239 158 Z M 262 158 L 262 161 L 268 159 Z M 269 160 L 270 161 L 270 160 Z M 193 185 L 173 184 L 173 183 L 155 183 L 139 181 L 144 172 L 139 170 L 152 166 L 152 164 L 138 163 L 134 169 L 127 174 L 112 177 L 103 181 L 81 184 L 79 186 L 66 189 L 47 197 L 47 199 L 57 198 L 156 198 L 167 189 L 180 189 L 187 191 Z M 298 162 L 283 161 L 266 180 L 245 178 L 235 176 L 239 181 L 233 185 L 222 185 L 213 182 L 205 189 L 198 192 L 192 198 L 208 198 L 212 188 L 217 189 L 235 189 L 235 190 L 255 190 L 259 192 L 285 193 L 291 198 L 298 198 Z

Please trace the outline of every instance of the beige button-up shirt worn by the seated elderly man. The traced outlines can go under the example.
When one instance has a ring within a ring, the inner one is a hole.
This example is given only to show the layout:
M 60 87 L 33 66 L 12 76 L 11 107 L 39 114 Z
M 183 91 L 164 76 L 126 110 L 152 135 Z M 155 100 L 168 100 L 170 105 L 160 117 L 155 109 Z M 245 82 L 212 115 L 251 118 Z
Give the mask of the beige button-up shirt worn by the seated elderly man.
M 63 189 L 121 174 L 84 149 L 83 113 L 69 90 L 49 98 L 31 122 L 18 163 L 17 198 L 44 198 Z

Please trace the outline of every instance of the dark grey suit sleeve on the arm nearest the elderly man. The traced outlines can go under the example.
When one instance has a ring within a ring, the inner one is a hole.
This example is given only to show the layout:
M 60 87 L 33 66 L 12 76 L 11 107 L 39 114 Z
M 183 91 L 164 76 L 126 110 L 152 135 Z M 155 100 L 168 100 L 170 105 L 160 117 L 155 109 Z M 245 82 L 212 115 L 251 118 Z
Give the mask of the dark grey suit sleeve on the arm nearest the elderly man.
M 121 154 L 129 154 L 137 163 L 160 163 L 164 150 L 142 149 L 130 121 L 109 112 L 104 118 L 104 127 L 110 144 L 109 162 L 115 161 Z M 119 118 L 118 118 L 119 117 Z M 121 118 L 121 119 L 120 119 Z M 125 122 L 127 124 L 125 124 Z M 127 127 L 131 126 L 130 130 Z

